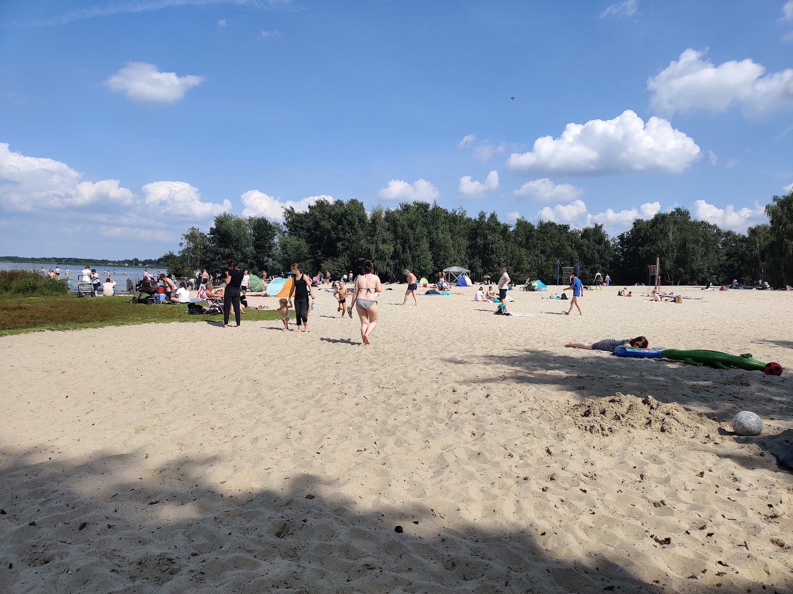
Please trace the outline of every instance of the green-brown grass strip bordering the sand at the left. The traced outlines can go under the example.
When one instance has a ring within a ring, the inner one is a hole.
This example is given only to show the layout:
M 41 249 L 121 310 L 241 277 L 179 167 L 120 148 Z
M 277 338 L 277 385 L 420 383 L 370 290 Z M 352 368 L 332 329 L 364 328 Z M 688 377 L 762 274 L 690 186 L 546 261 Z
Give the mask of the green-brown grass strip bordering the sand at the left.
M 142 305 L 129 303 L 129 299 L 129 295 L 82 299 L 77 295 L 0 296 L 0 336 L 150 322 L 223 322 L 222 315 L 188 315 L 186 304 Z M 280 319 L 278 310 L 245 310 L 243 314 L 243 322 Z

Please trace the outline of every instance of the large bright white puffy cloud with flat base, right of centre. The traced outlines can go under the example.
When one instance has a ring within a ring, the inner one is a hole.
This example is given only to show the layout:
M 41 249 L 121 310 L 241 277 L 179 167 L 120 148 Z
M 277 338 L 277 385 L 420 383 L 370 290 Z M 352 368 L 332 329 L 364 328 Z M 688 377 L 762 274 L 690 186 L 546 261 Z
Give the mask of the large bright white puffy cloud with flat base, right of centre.
M 699 147 L 668 120 L 651 117 L 645 124 L 630 109 L 614 120 L 567 124 L 559 138 L 543 136 L 533 150 L 512 153 L 507 167 L 515 173 L 680 173 L 699 158 Z

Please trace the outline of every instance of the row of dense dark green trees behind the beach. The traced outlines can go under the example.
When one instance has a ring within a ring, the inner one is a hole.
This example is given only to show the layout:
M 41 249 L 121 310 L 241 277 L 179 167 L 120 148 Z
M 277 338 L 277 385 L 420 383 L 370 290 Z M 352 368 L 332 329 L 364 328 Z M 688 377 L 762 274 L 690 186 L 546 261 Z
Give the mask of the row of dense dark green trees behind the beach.
M 293 262 L 306 272 L 359 272 L 374 261 L 386 281 L 404 280 L 408 268 L 431 278 L 449 266 L 464 266 L 474 280 L 496 276 L 502 265 L 511 277 L 555 283 L 557 261 L 574 266 L 591 282 L 596 272 L 619 284 L 648 282 L 649 264 L 661 259 L 665 284 L 727 283 L 768 280 L 793 284 L 793 192 L 774 196 L 766 207 L 769 223 L 746 234 L 691 219 L 684 208 L 637 219 L 630 230 L 610 238 L 602 225 L 574 229 L 540 221 L 501 222 L 495 213 L 476 218 L 438 204 L 414 202 L 367 214 L 358 200 L 320 201 L 297 212 L 285 210 L 285 222 L 224 213 L 209 233 L 196 227 L 182 236 L 180 251 L 167 253 L 170 272 L 183 276 L 196 268 L 217 272 L 233 257 L 251 272 L 280 275 Z

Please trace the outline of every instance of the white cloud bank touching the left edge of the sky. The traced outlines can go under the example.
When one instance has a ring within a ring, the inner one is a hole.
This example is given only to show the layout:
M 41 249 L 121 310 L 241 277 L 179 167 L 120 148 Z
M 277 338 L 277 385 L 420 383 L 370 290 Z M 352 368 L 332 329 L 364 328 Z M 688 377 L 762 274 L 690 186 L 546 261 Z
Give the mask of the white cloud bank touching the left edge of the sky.
M 83 181 L 82 173 L 54 159 L 28 157 L 0 143 L 0 208 L 32 211 L 91 205 L 132 204 L 135 196 L 118 180 Z

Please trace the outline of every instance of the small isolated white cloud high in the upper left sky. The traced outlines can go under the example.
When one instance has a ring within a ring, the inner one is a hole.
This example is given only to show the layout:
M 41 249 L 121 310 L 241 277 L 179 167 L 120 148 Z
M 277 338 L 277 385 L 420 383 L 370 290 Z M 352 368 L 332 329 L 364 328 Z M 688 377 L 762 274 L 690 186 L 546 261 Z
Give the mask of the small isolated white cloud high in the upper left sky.
M 204 82 L 203 76 L 160 72 L 154 64 L 130 62 L 105 81 L 116 93 L 124 93 L 132 101 L 143 103 L 176 103 L 185 93 Z

